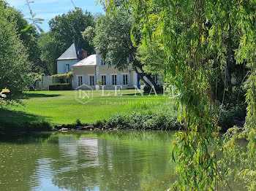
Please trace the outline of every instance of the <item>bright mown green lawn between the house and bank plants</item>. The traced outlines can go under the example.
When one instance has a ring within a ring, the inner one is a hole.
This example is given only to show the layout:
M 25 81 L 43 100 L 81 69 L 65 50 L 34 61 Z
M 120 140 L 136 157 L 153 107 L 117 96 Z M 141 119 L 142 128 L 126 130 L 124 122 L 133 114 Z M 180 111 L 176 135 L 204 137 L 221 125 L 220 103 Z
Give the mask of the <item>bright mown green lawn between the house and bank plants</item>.
M 0 122 L 19 124 L 45 120 L 53 125 L 61 125 L 72 124 L 79 119 L 83 123 L 91 123 L 108 119 L 111 114 L 161 109 L 160 105 L 167 103 L 168 100 L 166 96 L 155 96 L 154 93 L 151 96 L 135 96 L 135 90 L 121 90 L 121 93 L 122 96 L 115 96 L 114 90 L 105 90 L 105 96 L 102 96 L 102 91 L 94 90 L 90 101 L 88 98 L 78 98 L 79 93 L 78 101 L 75 99 L 75 91 L 26 92 L 24 98 L 20 99 L 24 105 L 0 109 Z

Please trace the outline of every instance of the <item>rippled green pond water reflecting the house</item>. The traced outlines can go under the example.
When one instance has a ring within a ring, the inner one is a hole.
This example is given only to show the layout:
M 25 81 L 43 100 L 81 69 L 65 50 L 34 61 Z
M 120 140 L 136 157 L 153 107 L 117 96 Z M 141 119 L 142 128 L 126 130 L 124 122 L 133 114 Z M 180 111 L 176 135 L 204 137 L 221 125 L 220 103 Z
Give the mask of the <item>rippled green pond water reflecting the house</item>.
M 0 136 L 0 190 L 167 190 L 173 132 Z

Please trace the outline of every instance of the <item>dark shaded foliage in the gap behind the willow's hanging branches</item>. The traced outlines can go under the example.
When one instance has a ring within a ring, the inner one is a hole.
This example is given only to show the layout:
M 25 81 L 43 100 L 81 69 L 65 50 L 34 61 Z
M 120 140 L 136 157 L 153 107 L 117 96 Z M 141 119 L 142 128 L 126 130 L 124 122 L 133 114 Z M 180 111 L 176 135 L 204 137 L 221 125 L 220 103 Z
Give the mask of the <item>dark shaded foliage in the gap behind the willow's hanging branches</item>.
M 238 66 L 233 67 L 233 71 Z M 228 128 L 236 125 L 235 120 L 245 120 L 246 104 L 244 95 L 246 88 L 242 81 L 243 76 L 244 72 L 241 72 L 241 74 L 236 72 L 236 83 L 232 84 L 231 82 L 225 82 L 225 77 L 223 77 L 220 69 L 211 70 L 211 87 L 219 117 L 218 125 L 222 132 L 226 132 Z

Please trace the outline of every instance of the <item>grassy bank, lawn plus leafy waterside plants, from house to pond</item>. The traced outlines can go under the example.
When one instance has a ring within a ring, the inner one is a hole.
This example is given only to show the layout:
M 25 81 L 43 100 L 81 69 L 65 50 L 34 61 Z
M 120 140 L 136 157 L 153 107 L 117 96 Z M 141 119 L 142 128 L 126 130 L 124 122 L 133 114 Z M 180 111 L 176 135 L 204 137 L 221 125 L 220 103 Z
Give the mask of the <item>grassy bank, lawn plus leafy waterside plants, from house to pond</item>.
M 121 90 L 121 96 L 116 96 L 114 90 L 105 90 L 105 96 L 102 91 L 94 91 L 93 96 L 91 91 L 86 93 L 91 94 L 90 98 L 80 98 L 74 91 L 26 92 L 20 99 L 23 105 L 0 110 L 1 130 L 47 130 L 51 125 L 74 124 L 77 120 L 83 124 L 121 122 L 133 128 L 148 128 L 154 123 L 168 125 L 167 121 L 176 117 L 175 103 L 163 95 L 135 96 L 135 90 Z

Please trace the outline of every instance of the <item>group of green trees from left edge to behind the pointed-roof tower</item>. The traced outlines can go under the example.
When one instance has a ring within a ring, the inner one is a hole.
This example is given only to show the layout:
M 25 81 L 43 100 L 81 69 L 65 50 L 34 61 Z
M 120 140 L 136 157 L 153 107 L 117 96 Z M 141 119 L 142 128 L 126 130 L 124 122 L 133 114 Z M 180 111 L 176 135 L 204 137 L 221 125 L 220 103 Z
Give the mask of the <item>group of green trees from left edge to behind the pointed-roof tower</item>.
M 56 74 L 56 59 L 73 42 L 89 54 L 94 52 L 81 34 L 94 27 L 94 15 L 80 8 L 54 17 L 46 33 L 3 0 L 0 17 L 0 87 L 10 89 L 12 100 L 42 75 Z

